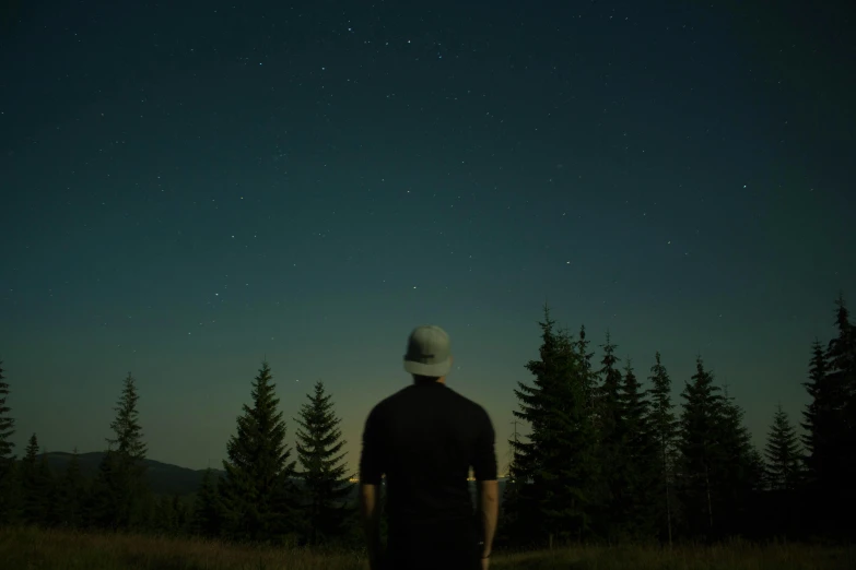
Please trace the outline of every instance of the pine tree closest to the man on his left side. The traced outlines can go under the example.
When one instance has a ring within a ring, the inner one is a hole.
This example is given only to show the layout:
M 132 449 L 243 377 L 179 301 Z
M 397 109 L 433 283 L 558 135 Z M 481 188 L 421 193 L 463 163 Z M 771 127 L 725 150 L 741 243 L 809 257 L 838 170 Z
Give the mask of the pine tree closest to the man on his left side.
M 349 483 L 347 453 L 340 453 L 345 441 L 339 429 L 340 419 L 333 414 L 332 396 L 325 394 L 324 382 L 315 384 L 315 393 L 307 394 L 308 403 L 301 406 L 295 448 L 301 465 L 300 478 L 306 502 L 303 504 L 307 529 L 304 537 L 309 545 L 341 538 L 349 518 Z

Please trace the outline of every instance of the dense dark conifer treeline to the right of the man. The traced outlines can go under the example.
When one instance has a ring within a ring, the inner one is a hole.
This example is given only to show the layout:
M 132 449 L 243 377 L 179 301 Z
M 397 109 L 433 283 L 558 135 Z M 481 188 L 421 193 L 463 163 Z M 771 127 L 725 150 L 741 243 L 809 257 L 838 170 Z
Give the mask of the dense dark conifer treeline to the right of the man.
M 773 394 L 762 452 L 701 356 L 676 405 L 659 353 L 643 388 L 609 333 L 596 363 L 585 326 L 560 330 L 547 307 L 540 324 L 535 380 L 515 390 L 531 434 L 509 442 L 501 544 L 854 537 L 856 329 L 842 297 L 836 336 L 811 346 L 805 435 Z

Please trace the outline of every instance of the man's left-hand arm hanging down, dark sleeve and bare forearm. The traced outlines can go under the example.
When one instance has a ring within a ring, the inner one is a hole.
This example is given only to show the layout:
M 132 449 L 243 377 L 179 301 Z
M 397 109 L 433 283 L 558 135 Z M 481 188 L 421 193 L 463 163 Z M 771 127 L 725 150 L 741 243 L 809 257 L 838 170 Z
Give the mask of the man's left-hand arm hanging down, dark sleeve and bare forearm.
M 363 453 L 360 456 L 360 512 L 372 570 L 380 568 L 380 478 L 385 471 L 382 432 L 375 406 L 365 420 Z

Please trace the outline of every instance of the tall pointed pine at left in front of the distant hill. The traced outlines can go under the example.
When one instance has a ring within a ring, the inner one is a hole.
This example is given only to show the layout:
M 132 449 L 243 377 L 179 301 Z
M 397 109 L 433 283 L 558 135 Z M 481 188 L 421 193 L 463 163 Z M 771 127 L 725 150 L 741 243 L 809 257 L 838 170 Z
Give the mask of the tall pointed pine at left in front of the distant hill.
M 142 440 L 137 403 L 139 395 L 134 378 L 128 372 L 121 396 L 110 423 L 115 438 L 98 468 L 93 485 L 93 514 L 106 529 L 141 529 L 148 523 L 150 494 L 145 476 L 146 446 Z

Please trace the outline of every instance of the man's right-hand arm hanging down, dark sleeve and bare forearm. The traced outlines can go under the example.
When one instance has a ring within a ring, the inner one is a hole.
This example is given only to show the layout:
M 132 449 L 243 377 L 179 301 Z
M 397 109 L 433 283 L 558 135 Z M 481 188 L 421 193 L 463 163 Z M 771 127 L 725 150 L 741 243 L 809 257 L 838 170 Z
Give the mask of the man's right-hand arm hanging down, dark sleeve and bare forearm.
M 500 516 L 500 483 L 496 475 L 496 434 L 491 418 L 482 409 L 479 436 L 472 453 L 472 474 L 479 482 L 479 504 L 477 508 L 481 530 L 482 558 L 491 555 L 496 520 Z

